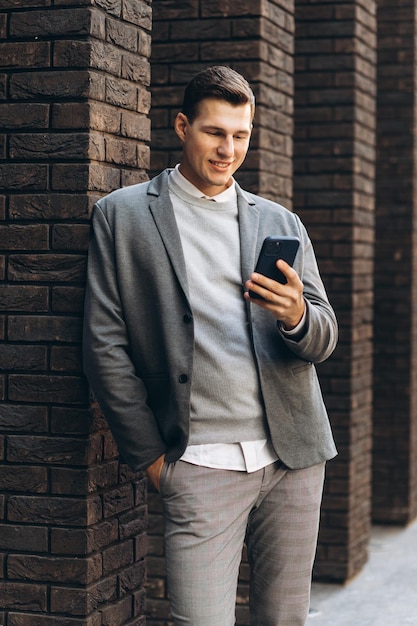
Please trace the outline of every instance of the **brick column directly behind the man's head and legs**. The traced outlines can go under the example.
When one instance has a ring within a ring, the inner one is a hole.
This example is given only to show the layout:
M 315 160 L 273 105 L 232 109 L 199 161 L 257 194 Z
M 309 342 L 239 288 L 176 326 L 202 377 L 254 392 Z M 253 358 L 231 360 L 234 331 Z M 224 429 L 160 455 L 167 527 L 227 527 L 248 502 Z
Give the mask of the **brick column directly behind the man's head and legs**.
M 257 101 L 251 147 L 237 180 L 265 197 L 292 206 L 293 2 L 199 0 L 153 4 L 153 173 L 172 167 L 180 144 L 172 130 L 184 87 L 209 65 L 229 65 L 251 83 Z M 148 624 L 169 623 L 161 537 L 161 506 L 149 499 Z M 237 599 L 237 624 L 248 617 L 248 566 L 244 559 Z

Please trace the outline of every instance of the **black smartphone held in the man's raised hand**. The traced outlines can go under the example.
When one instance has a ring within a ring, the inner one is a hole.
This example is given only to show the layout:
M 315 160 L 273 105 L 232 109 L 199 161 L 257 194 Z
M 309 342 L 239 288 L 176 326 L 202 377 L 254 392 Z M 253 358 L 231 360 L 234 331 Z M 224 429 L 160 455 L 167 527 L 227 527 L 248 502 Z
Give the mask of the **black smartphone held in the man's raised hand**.
M 300 240 L 298 237 L 267 237 L 262 244 L 255 272 L 284 285 L 287 279 L 277 268 L 276 262 L 278 259 L 283 259 L 288 265 L 292 265 L 299 245 Z M 251 298 L 262 298 L 262 296 L 253 291 L 249 291 L 249 295 Z

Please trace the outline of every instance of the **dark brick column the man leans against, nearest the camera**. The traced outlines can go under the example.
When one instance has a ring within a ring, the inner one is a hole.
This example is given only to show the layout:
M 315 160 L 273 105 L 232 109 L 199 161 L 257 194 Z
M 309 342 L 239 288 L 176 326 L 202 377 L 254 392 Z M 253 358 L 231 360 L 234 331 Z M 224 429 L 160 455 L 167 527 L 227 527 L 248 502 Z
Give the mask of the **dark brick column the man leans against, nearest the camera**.
M 141 0 L 90 4 L 0 5 L 8 626 L 145 623 L 145 481 L 119 464 L 100 412 L 90 412 L 80 342 L 89 209 L 146 178 L 151 10 Z

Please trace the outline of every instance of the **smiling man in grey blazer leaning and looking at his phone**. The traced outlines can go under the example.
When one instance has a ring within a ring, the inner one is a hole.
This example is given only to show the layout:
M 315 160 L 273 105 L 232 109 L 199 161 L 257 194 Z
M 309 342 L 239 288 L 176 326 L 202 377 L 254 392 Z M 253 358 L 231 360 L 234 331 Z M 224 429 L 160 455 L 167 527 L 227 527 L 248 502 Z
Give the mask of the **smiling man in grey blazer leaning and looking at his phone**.
M 228 67 L 185 90 L 179 166 L 94 211 L 85 370 L 122 457 L 164 506 L 176 626 L 232 626 L 241 551 L 254 626 L 301 626 L 325 461 L 314 363 L 337 325 L 299 218 L 233 179 L 254 97 Z M 281 284 L 254 273 L 268 235 L 300 239 Z M 255 299 L 249 290 L 262 296 Z

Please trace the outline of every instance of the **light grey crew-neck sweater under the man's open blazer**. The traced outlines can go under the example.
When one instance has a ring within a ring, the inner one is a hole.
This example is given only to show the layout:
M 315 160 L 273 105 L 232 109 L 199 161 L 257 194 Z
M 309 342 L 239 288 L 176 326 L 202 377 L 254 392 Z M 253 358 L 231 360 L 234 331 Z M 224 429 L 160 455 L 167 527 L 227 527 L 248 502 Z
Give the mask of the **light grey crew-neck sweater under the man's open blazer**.
M 266 439 L 240 269 L 236 202 L 169 180 L 194 314 L 190 445 Z

